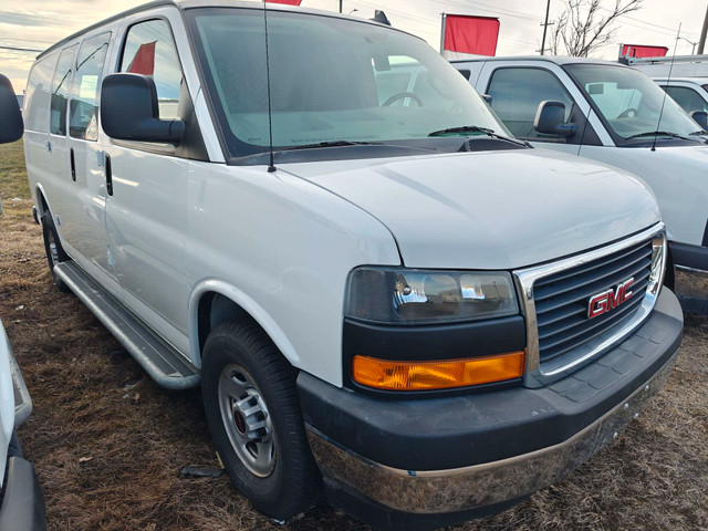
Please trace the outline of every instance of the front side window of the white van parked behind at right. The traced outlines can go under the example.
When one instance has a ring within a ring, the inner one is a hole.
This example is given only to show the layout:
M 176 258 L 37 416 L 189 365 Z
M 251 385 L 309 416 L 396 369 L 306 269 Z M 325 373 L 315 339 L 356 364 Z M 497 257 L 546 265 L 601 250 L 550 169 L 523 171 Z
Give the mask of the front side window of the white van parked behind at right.
M 573 98 L 560 80 L 541 69 L 499 69 L 493 73 L 487 93 L 491 96 L 491 108 L 519 138 L 550 137 L 533 128 L 541 102 L 564 103 L 566 121 L 573 106 Z

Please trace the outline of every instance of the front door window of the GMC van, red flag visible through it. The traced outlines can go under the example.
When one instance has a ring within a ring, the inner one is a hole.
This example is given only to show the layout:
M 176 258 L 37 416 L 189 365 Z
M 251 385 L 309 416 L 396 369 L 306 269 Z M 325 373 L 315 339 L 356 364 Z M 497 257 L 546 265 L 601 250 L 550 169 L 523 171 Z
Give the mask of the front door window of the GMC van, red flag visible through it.
M 149 75 L 157 87 L 159 117 L 177 117 L 181 67 L 169 25 L 164 20 L 139 22 L 128 30 L 121 72 Z

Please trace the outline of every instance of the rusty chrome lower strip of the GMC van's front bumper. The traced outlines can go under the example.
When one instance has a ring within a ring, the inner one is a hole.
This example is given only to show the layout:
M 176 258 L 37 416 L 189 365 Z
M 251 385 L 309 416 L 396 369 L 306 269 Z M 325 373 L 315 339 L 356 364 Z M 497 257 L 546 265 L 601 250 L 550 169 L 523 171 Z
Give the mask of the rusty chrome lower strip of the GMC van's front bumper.
M 310 446 L 325 477 L 397 511 L 425 514 L 491 506 L 548 487 L 589 460 L 638 416 L 666 383 L 675 360 L 564 442 L 494 462 L 414 472 L 356 456 L 313 430 L 308 433 Z

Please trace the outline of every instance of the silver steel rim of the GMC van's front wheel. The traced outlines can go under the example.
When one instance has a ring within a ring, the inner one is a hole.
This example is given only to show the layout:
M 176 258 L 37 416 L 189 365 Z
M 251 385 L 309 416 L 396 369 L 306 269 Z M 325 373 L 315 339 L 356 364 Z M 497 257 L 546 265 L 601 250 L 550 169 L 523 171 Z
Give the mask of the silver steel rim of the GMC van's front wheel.
M 243 466 L 259 478 L 275 468 L 275 439 L 266 400 L 242 366 L 230 364 L 219 377 L 219 409 L 231 447 Z

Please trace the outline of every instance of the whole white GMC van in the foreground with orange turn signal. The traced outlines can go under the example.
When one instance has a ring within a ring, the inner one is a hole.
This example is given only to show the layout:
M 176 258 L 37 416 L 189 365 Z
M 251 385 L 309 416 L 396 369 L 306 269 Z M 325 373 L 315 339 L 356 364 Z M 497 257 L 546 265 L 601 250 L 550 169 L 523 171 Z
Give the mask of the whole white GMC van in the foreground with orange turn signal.
M 385 528 L 501 510 L 676 357 L 652 192 L 510 138 L 387 25 L 153 2 L 41 54 L 25 119 L 55 282 L 160 385 L 201 386 L 226 471 L 279 520 L 322 490 Z

